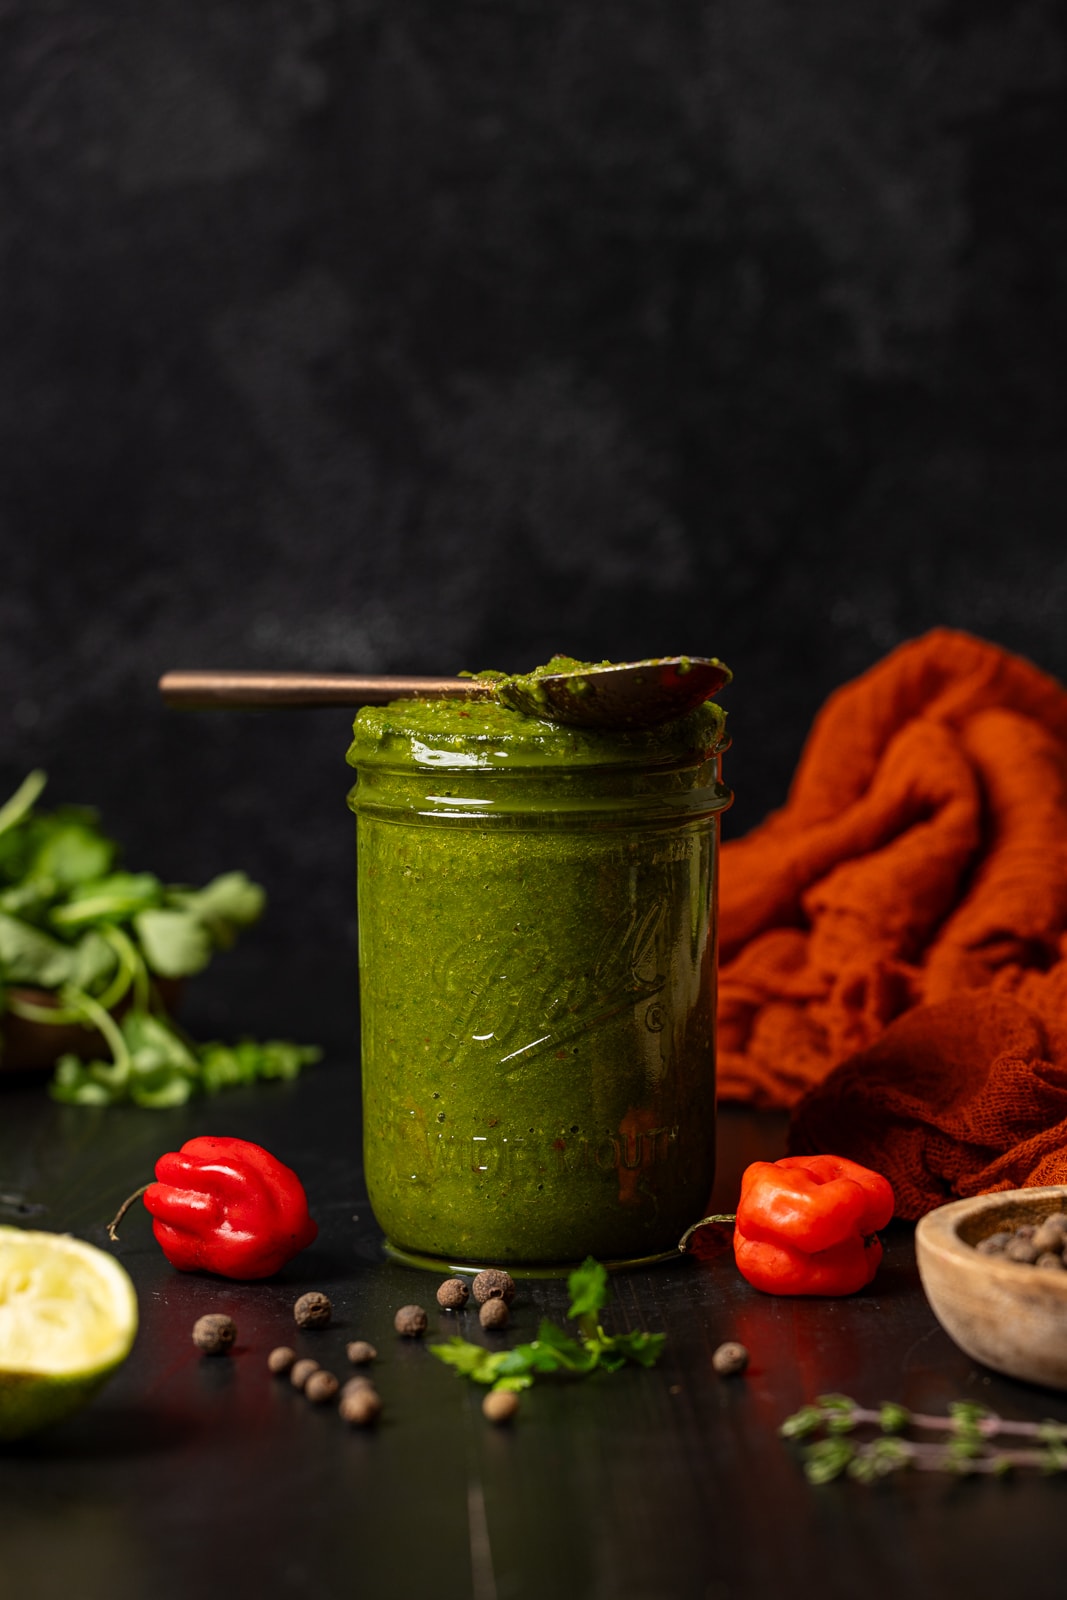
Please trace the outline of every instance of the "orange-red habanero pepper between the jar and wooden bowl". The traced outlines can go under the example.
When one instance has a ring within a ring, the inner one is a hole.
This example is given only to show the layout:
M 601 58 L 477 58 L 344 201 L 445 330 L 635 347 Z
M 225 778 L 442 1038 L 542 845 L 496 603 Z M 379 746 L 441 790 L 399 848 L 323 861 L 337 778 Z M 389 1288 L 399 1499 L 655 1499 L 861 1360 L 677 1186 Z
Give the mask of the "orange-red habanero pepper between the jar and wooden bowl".
M 893 1208 L 888 1179 L 843 1155 L 753 1162 L 741 1178 L 737 1270 L 768 1294 L 854 1294 L 878 1270 L 877 1232 Z

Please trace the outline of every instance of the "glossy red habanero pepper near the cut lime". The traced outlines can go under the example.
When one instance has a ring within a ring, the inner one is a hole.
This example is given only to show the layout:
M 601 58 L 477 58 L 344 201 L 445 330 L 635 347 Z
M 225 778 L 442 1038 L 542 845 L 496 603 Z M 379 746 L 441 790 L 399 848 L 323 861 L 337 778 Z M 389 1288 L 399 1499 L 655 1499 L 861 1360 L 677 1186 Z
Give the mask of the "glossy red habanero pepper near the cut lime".
M 144 1203 L 181 1272 L 269 1278 L 318 1234 L 296 1173 L 246 1139 L 189 1139 L 160 1155 L 155 1179 Z

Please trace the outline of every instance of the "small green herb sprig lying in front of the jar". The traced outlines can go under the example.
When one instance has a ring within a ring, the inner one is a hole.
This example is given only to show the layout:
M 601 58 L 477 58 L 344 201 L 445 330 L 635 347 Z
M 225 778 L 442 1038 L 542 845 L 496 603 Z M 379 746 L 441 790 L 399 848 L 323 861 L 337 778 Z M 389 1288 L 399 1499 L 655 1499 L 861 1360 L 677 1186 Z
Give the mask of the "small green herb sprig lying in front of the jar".
M 608 1270 L 589 1256 L 566 1280 L 571 1304 L 568 1318 L 577 1322 L 577 1338 L 571 1338 L 555 1322 L 544 1318 L 537 1338 L 510 1350 L 486 1350 L 459 1336 L 445 1344 L 432 1344 L 430 1352 L 446 1366 L 475 1384 L 493 1389 L 530 1389 L 534 1378 L 585 1378 L 600 1368 L 614 1373 L 627 1363 L 654 1366 L 662 1352 L 662 1333 L 609 1334 L 600 1325 L 600 1312 L 608 1302 Z

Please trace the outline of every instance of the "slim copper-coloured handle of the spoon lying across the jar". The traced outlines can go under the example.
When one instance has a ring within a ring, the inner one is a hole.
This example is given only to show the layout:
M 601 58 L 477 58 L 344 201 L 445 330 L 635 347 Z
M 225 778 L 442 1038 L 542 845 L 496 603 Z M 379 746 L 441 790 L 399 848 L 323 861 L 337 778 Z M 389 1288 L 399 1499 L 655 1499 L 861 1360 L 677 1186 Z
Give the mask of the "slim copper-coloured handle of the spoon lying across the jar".
M 386 706 L 394 699 L 488 699 L 474 678 L 382 678 L 349 672 L 165 672 L 160 694 L 186 710 L 274 706 Z

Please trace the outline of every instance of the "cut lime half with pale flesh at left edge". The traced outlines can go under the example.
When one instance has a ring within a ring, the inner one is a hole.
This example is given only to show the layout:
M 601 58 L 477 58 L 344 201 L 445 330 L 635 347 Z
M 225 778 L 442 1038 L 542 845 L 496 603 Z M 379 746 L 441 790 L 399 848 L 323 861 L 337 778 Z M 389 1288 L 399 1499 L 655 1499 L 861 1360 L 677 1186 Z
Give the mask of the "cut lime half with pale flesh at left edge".
M 138 1296 L 114 1256 L 69 1234 L 0 1227 L 0 1440 L 83 1406 L 136 1331 Z

